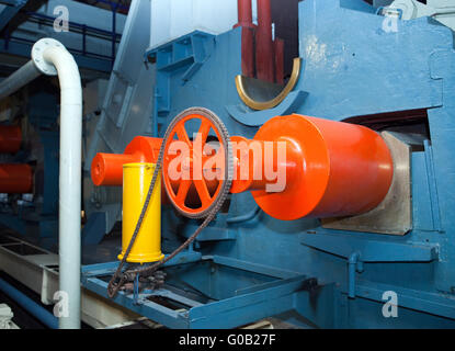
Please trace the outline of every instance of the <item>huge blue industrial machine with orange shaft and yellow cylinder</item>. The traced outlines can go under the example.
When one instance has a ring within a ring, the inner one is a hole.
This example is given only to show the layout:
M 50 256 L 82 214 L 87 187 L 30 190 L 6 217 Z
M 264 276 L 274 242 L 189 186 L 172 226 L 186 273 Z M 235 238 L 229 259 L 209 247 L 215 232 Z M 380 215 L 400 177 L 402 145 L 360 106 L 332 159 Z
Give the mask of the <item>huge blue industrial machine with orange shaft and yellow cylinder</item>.
M 426 2 L 298 2 L 286 75 L 270 0 L 133 1 L 83 294 L 169 328 L 454 328 L 453 5 Z

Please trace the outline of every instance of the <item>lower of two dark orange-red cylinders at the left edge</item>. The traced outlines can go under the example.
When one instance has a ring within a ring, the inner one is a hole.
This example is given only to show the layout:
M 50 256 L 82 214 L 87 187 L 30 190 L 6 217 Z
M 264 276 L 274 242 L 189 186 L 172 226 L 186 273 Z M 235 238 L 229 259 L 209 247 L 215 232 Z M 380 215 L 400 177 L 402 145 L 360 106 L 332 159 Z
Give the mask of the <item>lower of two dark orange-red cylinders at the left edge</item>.
M 0 193 L 26 194 L 33 189 L 33 170 L 29 165 L 0 165 Z

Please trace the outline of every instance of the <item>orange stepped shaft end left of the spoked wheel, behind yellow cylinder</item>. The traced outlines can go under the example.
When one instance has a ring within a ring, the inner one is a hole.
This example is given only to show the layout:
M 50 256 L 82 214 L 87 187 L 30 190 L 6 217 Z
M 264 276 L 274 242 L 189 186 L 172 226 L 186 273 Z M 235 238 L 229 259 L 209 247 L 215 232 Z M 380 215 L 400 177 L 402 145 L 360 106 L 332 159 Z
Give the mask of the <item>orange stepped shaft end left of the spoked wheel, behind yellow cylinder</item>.
M 122 186 L 123 166 L 127 163 L 156 163 L 162 139 L 138 136 L 123 155 L 98 154 L 92 161 L 91 174 L 95 185 Z

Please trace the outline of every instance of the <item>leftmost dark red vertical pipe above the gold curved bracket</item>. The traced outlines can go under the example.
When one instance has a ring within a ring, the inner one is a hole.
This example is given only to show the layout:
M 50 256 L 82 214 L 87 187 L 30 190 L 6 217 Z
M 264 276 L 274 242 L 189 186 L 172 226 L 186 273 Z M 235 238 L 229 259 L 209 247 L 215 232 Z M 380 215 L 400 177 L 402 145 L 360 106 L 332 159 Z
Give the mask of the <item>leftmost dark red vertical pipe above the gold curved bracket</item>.
M 254 77 L 254 29 L 251 0 L 238 0 L 239 23 L 241 26 L 241 72 Z

